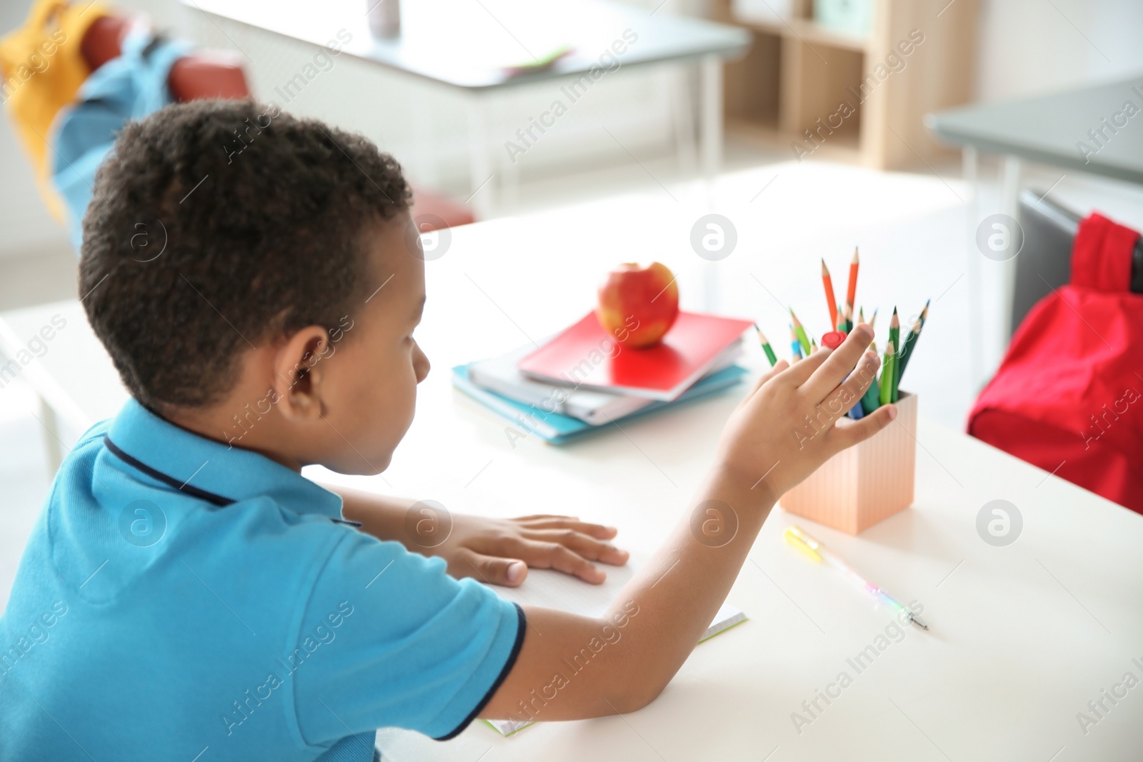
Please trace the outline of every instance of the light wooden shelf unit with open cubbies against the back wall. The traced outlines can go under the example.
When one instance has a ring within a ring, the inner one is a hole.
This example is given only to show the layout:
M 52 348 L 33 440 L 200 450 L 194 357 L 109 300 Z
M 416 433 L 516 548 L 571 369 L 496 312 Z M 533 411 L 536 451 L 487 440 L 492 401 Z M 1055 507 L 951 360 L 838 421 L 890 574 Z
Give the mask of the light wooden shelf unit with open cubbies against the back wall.
M 872 29 L 857 35 L 815 22 L 813 0 L 792 0 L 790 16 L 768 21 L 738 18 L 732 0 L 713 0 L 717 21 L 754 38 L 744 58 L 726 64 L 727 131 L 791 158 L 879 169 L 948 154 L 922 119 L 972 97 L 977 0 L 872 2 Z

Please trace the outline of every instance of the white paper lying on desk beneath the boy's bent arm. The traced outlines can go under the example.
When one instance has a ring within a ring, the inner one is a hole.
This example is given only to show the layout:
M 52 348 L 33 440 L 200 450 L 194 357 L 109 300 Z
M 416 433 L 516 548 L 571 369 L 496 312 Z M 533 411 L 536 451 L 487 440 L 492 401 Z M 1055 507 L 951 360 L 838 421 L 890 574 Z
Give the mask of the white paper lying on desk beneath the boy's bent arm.
M 494 589 L 505 600 L 520 605 L 539 605 L 585 617 L 599 617 L 607 611 L 636 573 L 636 564 L 630 562 L 623 567 L 602 564 L 601 568 L 607 571 L 607 580 L 602 585 L 590 585 L 582 579 L 551 569 L 528 569 L 528 578 L 519 587 Z M 746 615 L 742 609 L 724 603 L 698 642 L 709 640 L 745 619 Z M 486 720 L 486 722 L 504 736 L 531 724 L 518 720 Z

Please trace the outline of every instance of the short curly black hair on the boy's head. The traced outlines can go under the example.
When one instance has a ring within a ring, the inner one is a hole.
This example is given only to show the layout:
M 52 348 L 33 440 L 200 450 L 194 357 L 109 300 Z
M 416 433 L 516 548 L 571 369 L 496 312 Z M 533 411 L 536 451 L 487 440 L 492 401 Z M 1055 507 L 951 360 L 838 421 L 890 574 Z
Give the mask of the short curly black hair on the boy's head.
M 253 101 L 169 105 L 96 174 L 79 292 L 139 402 L 208 406 L 249 346 L 338 326 L 369 288 L 366 235 L 410 202 L 360 135 Z

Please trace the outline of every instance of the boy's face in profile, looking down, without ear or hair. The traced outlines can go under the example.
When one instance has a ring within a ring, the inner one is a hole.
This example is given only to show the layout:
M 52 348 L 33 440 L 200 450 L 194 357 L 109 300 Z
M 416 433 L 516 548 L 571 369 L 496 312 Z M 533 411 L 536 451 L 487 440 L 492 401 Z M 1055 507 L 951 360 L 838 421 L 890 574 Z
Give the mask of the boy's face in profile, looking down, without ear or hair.
M 408 215 L 370 236 L 368 296 L 333 331 L 319 366 L 323 417 L 330 433 L 317 459 L 339 473 L 374 474 L 389 466 L 413 423 L 417 384 L 429 359 L 413 338 L 425 303 L 424 263 L 405 243 Z M 321 354 L 321 353 L 319 353 Z M 318 366 L 315 366 L 315 369 Z

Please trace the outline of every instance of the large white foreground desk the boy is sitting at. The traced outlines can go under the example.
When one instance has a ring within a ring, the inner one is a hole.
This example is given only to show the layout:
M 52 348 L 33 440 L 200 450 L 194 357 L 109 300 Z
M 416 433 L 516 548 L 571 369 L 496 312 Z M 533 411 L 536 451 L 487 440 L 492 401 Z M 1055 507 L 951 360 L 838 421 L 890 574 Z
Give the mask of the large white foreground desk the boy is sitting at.
M 710 465 L 741 391 L 570 447 L 529 439 L 513 449 L 504 424 L 453 392 L 447 376 L 451 363 L 578 316 L 601 267 L 622 258 L 654 252 L 680 274 L 684 302 L 695 298 L 690 263 L 709 263 L 686 244 L 694 217 L 655 203 L 612 201 L 451 231 L 449 250 L 426 265 L 429 305 L 417 336 L 435 366 L 422 385 L 417 419 L 383 476 L 345 481 L 431 497 L 453 511 L 604 520 L 620 527 L 637 559 L 646 558 Z M 624 214 L 607 217 L 601 208 Z M 740 227 L 746 241 L 761 234 Z M 804 230 L 794 233 L 805 240 Z M 806 280 L 798 273 L 813 274 L 817 256 L 789 250 L 799 254 L 762 262 L 744 251 L 718 265 L 732 279 L 758 273 L 785 296 L 788 279 Z M 50 316 L 53 308 L 42 312 Z M 87 340 L 83 351 L 93 351 Z M 57 386 L 79 395 L 107 383 L 95 378 L 106 364 L 65 368 L 73 350 L 53 345 L 40 361 L 46 372 L 59 363 Z M 926 362 L 938 364 L 937 358 Z M 1132 663 L 1143 661 L 1143 519 L 925 420 L 924 390 L 921 396 L 914 506 L 856 538 L 808 528 L 871 580 L 922 602 L 932 632 L 906 629 L 856 674 L 846 659 L 873 643 L 890 616 L 785 547 L 781 535 L 791 516 L 775 511 L 729 596 L 751 620 L 698 647 L 646 709 L 536 725 L 506 739 L 483 723 L 447 744 L 384 730 L 378 743 L 386 759 L 1137 760 L 1143 687 L 1086 736 L 1076 714 L 1124 673 L 1143 677 Z M 1008 547 L 976 534 L 977 511 L 996 498 L 1023 513 L 1023 535 Z M 798 735 L 791 713 L 804 712 L 801 703 L 841 671 L 853 684 Z

